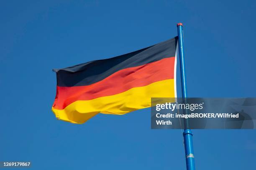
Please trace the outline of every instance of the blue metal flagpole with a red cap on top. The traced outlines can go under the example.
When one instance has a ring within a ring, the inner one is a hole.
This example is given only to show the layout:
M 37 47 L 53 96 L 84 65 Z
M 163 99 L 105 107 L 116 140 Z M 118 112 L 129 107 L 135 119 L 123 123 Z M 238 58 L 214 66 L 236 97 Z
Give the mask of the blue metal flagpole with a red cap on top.
M 184 61 L 184 47 L 183 47 L 183 25 L 182 23 L 177 24 L 178 28 L 178 38 L 179 38 L 179 63 L 180 63 L 180 73 L 182 80 L 182 98 L 187 98 L 187 79 L 185 71 L 185 61 Z M 192 132 L 189 129 L 189 122 L 187 119 L 184 121 L 184 147 L 186 156 L 187 170 L 195 170 L 195 160 L 194 160 L 194 150 L 192 142 Z

